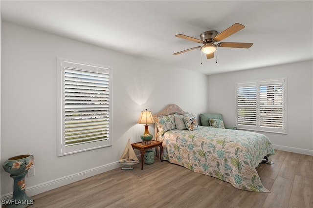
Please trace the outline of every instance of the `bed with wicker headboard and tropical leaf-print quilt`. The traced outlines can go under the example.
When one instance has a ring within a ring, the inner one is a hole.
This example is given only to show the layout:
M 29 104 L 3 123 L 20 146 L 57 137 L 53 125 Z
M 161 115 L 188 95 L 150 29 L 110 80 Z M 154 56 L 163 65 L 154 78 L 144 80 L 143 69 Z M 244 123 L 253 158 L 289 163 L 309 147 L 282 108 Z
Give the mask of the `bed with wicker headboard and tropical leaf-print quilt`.
M 154 119 L 155 137 L 163 146 L 163 160 L 213 176 L 239 189 L 269 192 L 256 171 L 264 157 L 270 162 L 270 156 L 275 154 L 267 136 L 200 126 L 193 114 L 176 104 L 154 114 Z

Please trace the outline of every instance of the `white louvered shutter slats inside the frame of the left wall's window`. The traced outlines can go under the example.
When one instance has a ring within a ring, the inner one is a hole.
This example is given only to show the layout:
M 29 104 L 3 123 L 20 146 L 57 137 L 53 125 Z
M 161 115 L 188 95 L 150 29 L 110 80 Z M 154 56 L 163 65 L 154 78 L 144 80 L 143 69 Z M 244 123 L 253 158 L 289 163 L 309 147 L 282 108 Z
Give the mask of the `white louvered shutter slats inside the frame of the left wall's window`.
M 65 146 L 109 139 L 108 73 L 65 68 Z

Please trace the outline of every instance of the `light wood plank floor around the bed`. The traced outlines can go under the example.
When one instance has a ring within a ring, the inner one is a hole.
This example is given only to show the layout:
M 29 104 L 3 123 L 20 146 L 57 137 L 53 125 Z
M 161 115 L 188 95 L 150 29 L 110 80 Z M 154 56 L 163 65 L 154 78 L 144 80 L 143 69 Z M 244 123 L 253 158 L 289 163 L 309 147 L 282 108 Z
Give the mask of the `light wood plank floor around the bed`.
M 313 208 L 313 156 L 275 151 L 257 171 L 270 192 L 160 162 L 108 172 L 33 196 L 29 208 Z

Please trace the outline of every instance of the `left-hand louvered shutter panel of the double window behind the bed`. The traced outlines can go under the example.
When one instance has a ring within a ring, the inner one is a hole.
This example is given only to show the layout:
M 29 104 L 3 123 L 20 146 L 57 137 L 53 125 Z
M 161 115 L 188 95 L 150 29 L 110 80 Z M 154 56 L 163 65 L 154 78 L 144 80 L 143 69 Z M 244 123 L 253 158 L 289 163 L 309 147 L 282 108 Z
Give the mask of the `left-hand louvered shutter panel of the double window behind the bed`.
M 237 124 L 256 126 L 257 88 L 256 86 L 237 87 Z

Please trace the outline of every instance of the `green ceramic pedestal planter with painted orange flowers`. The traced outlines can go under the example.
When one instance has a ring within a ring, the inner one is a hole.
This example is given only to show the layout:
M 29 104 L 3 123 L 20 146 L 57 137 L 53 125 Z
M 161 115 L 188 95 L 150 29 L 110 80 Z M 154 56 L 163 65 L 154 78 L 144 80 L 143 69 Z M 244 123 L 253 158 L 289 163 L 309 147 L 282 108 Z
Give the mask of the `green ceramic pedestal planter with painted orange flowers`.
M 19 155 L 4 162 L 4 171 L 10 173 L 10 177 L 14 180 L 13 197 L 5 208 L 25 208 L 33 204 L 33 200 L 25 193 L 25 175 L 33 163 L 34 156 L 32 155 Z

